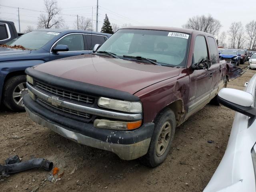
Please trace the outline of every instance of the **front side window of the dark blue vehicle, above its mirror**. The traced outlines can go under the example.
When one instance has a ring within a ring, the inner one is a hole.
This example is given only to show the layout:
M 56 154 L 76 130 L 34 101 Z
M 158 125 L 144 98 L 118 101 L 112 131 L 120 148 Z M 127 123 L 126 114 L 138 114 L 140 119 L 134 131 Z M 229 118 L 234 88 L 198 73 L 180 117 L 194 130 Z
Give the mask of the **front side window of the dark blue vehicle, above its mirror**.
M 84 38 L 82 34 L 71 34 L 59 40 L 56 45 L 67 45 L 69 51 L 83 51 Z

